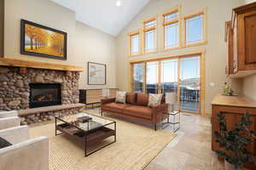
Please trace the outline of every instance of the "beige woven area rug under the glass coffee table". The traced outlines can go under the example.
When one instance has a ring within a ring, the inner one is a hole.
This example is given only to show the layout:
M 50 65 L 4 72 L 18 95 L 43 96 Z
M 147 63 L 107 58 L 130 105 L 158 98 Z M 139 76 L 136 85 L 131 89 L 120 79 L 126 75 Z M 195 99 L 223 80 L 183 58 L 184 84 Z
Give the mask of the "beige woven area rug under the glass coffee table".
M 109 117 L 108 117 L 109 118 Z M 117 142 L 84 157 L 82 143 L 55 136 L 55 123 L 30 128 L 31 137 L 49 137 L 49 170 L 142 170 L 176 137 L 163 130 L 117 122 Z M 105 143 L 108 142 L 104 141 Z

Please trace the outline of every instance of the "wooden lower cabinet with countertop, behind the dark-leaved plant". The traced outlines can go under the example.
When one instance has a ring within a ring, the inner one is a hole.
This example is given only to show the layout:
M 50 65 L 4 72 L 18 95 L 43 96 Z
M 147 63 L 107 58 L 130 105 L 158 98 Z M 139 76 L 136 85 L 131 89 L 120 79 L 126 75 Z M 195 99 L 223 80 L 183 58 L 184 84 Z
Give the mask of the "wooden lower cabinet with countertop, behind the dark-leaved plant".
M 219 131 L 217 114 L 224 114 L 227 128 L 231 130 L 236 126 L 236 123 L 241 121 L 241 116 L 247 112 L 252 115 L 251 120 L 253 121 L 253 125 L 249 129 L 256 132 L 256 102 L 244 97 L 223 95 L 218 95 L 212 100 L 212 150 L 221 149 L 214 136 L 214 132 Z M 247 146 L 247 150 L 256 157 L 255 139 L 252 144 Z M 256 169 L 251 164 L 246 166 Z

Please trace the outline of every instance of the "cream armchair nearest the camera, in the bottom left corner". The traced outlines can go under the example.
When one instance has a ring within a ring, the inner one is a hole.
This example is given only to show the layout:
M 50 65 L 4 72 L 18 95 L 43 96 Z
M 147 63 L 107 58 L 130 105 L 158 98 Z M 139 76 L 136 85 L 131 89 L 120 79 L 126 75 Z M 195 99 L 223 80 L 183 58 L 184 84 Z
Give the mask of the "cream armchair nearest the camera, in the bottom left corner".
M 0 130 L 0 137 L 13 144 L 0 149 L 0 169 L 49 169 L 49 139 L 47 137 L 29 139 L 27 126 Z

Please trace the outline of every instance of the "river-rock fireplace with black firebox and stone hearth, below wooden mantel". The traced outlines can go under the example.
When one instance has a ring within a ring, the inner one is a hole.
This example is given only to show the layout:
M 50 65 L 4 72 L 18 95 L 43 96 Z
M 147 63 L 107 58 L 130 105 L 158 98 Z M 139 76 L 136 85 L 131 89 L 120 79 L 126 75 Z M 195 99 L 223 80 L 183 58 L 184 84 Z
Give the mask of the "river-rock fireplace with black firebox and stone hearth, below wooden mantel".
M 21 124 L 53 120 L 83 107 L 79 71 L 0 66 L 0 111 L 17 110 Z

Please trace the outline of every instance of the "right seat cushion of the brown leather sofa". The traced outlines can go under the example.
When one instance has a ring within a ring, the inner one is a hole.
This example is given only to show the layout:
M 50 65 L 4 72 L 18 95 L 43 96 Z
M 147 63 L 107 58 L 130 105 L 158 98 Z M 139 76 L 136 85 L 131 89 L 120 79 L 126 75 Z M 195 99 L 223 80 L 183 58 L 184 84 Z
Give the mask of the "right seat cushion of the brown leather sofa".
M 145 119 L 152 119 L 152 109 L 149 107 L 141 106 L 141 105 L 131 105 L 129 107 L 125 107 L 123 110 L 123 114 L 130 116 L 137 116 Z

